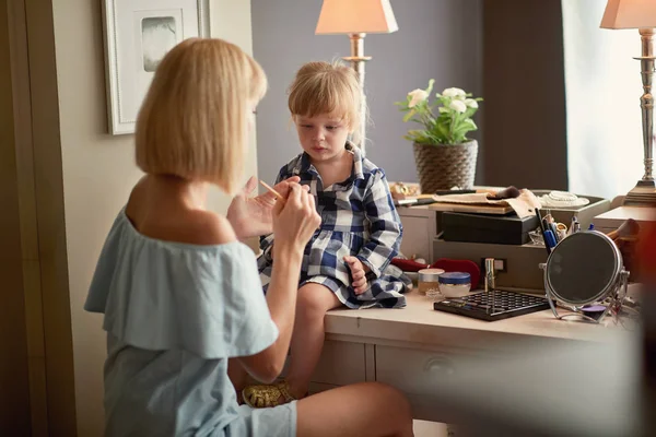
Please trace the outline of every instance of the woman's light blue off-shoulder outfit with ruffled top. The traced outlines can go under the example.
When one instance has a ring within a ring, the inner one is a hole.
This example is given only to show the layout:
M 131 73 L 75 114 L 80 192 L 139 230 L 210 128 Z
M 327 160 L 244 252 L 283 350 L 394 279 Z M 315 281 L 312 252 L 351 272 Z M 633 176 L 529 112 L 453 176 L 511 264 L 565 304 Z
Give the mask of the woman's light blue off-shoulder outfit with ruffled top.
M 84 308 L 104 314 L 107 331 L 107 437 L 295 434 L 295 404 L 239 406 L 227 377 L 230 357 L 255 355 L 278 338 L 244 244 L 149 238 L 122 210 Z

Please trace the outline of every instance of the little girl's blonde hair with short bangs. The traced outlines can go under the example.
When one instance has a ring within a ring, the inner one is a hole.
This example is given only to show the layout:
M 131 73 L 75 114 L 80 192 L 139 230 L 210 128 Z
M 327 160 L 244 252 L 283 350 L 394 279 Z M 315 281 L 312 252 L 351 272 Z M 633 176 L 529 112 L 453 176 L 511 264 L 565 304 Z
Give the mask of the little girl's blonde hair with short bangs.
M 290 86 L 289 108 L 292 117 L 315 117 L 329 114 L 342 118 L 351 130 L 352 140 L 361 144 L 362 115 L 366 114 L 364 95 L 358 73 L 339 61 L 308 62 L 301 67 Z

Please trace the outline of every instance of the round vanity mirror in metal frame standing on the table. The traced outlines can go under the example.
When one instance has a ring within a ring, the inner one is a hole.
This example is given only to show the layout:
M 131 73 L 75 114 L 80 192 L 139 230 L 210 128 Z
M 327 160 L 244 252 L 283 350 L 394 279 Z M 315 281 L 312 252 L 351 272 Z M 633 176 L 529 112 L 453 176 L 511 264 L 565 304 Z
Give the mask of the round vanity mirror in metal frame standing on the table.
M 599 232 L 572 234 L 555 246 L 542 265 L 544 288 L 554 315 L 600 321 L 621 305 L 620 290 L 626 290 L 629 272 L 614 243 Z M 557 305 L 572 312 L 558 314 Z

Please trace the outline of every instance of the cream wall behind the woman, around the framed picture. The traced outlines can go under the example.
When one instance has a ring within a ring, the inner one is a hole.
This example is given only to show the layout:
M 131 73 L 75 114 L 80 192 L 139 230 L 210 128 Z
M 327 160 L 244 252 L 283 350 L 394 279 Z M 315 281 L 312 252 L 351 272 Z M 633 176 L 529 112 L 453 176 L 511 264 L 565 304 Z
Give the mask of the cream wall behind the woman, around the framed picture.
M 82 307 L 95 263 L 117 212 L 141 176 L 133 137 L 107 132 L 101 1 L 54 0 L 79 436 L 103 430 L 102 318 Z M 251 52 L 249 0 L 211 1 L 212 34 Z M 255 144 L 248 174 L 256 174 Z M 224 210 L 214 192 L 211 206 Z

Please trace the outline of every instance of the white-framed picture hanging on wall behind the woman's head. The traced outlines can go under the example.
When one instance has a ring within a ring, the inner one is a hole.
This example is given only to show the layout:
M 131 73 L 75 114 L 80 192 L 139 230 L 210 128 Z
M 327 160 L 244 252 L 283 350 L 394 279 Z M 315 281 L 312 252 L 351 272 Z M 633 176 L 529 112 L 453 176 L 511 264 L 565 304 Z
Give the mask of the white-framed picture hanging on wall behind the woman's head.
M 133 133 L 164 55 L 183 39 L 210 36 L 209 0 L 103 0 L 109 133 Z

